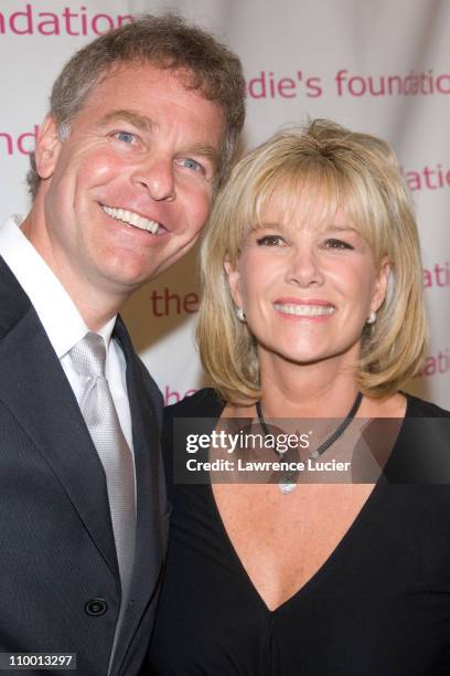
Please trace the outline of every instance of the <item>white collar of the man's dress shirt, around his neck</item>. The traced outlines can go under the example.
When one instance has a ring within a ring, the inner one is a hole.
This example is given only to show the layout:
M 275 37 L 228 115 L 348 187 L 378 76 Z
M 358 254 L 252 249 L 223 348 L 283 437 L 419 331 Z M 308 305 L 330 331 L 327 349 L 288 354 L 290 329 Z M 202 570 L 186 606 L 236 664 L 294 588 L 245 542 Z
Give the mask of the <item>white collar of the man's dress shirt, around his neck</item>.
M 89 330 L 60 279 L 23 234 L 21 216 L 0 228 L 0 255 L 29 296 L 58 359 Z M 116 317 L 98 331 L 109 346 Z

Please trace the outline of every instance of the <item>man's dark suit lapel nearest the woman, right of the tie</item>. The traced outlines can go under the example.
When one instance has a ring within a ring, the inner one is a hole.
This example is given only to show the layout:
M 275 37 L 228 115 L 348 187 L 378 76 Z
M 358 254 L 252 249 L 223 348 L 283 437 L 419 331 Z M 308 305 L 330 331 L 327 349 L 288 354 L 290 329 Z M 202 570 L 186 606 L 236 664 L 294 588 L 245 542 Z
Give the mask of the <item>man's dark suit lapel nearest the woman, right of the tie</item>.
M 120 341 L 127 360 L 127 389 L 132 419 L 138 515 L 131 589 L 133 605 L 125 622 L 117 647 L 115 666 L 118 667 L 157 590 L 164 556 L 161 516 L 167 505 L 157 410 L 160 404 L 150 399 L 142 378 L 142 367 L 120 318 L 117 320 L 115 335 Z

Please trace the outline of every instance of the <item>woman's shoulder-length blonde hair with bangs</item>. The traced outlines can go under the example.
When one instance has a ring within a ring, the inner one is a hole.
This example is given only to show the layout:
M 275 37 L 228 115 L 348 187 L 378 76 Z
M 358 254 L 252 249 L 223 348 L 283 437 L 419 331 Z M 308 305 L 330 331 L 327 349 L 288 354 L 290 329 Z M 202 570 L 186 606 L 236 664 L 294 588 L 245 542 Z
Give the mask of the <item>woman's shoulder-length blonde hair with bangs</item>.
M 281 208 L 299 199 L 314 213 L 323 205 L 323 218 L 342 208 L 371 245 L 375 265 L 388 257 L 387 295 L 376 323 L 363 330 L 356 370 L 364 394 L 394 393 L 417 372 L 427 345 L 414 208 L 385 141 L 323 119 L 272 136 L 235 167 L 217 196 L 201 247 L 197 326 L 202 363 L 214 387 L 233 403 L 261 395 L 256 342 L 236 317 L 224 261 L 236 268 L 248 232 L 274 196 Z

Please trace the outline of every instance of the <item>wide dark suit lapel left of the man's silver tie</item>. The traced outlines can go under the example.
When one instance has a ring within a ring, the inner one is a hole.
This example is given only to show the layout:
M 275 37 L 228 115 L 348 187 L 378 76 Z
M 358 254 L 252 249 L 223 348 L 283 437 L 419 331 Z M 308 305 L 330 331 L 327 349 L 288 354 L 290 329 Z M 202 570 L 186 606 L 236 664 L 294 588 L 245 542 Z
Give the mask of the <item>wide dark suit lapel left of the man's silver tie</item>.
M 44 456 L 117 575 L 106 479 L 98 454 L 39 317 L 4 264 L 0 265 L 1 282 L 6 284 L 0 284 L 0 400 Z

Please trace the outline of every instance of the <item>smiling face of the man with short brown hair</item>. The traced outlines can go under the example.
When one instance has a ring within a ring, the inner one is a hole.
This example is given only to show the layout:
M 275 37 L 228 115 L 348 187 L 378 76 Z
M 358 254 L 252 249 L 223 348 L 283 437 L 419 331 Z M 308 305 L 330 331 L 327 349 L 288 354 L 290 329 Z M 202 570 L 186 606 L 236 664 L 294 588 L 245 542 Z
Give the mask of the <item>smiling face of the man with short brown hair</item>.
M 44 218 L 30 239 L 74 299 L 125 298 L 188 252 L 210 212 L 224 133 L 217 104 L 141 64 L 94 87 L 67 140 L 46 120 Z

